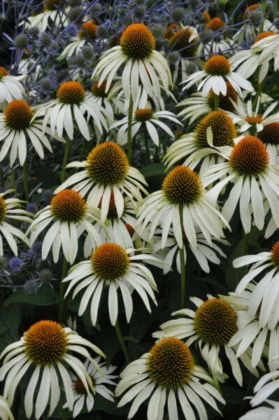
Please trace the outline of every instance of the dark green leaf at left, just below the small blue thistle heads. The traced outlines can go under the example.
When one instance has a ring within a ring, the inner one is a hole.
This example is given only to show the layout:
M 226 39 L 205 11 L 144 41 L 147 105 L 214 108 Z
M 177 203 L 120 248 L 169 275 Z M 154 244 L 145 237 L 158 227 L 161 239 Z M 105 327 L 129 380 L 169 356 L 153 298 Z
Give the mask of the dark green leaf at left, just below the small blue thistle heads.
M 35 295 L 26 295 L 23 288 L 17 288 L 4 302 L 7 307 L 12 303 L 24 302 L 29 304 L 36 304 L 37 306 L 50 306 L 59 302 L 59 296 L 49 286 L 45 285 L 38 289 Z

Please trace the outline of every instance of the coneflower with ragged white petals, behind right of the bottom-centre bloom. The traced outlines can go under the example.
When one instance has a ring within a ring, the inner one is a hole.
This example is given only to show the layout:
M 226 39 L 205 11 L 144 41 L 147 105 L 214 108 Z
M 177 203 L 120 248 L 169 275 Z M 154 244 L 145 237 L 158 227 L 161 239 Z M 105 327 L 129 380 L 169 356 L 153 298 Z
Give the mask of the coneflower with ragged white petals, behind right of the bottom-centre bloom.
M 213 297 L 205 302 L 198 297 L 190 297 L 190 300 L 196 305 L 196 311 L 180 309 L 173 312 L 172 315 L 183 315 L 184 317 L 163 323 L 160 325 L 162 331 L 155 332 L 152 334 L 153 337 L 187 338 L 187 346 L 198 342 L 201 356 L 206 360 L 213 377 L 220 382 L 224 382 L 224 379 L 227 378 L 219 358 L 220 351 L 224 350 L 231 365 L 231 371 L 238 384 L 242 386 L 241 367 L 234 349 L 229 346 L 229 340 L 237 331 L 236 311 L 227 302 Z M 243 361 L 245 361 L 246 367 L 257 374 L 257 370 L 252 369 L 251 363 L 248 363 L 247 359 L 248 357 L 245 355 Z

